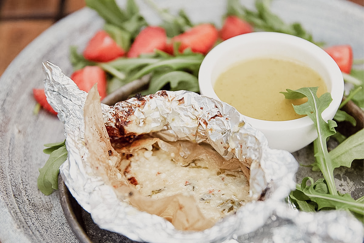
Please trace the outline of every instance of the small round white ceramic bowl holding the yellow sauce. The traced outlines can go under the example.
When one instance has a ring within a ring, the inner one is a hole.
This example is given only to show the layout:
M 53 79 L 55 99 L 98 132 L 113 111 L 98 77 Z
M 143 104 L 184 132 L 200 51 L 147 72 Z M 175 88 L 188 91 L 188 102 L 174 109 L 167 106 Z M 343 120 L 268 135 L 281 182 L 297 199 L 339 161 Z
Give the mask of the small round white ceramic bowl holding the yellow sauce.
M 213 89 L 219 75 L 235 63 L 257 57 L 295 60 L 318 72 L 333 99 L 322 117 L 325 121 L 334 117 L 344 93 L 343 76 L 336 62 L 315 44 L 282 33 L 253 32 L 235 36 L 215 46 L 203 59 L 199 69 L 201 94 L 220 100 Z M 313 121 L 307 116 L 289 121 L 245 117 L 252 126 L 264 133 L 269 146 L 274 149 L 295 152 L 317 138 Z

